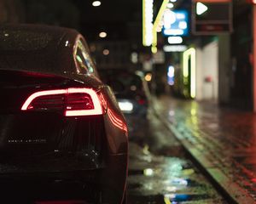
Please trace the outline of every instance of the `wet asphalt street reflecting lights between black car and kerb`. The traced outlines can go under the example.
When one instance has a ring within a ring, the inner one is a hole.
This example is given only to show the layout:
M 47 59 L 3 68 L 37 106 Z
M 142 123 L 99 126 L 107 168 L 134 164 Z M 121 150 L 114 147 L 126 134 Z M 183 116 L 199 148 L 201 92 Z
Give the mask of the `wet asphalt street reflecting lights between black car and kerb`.
M 153 111 L 141 131 L 130 137 L 128 203 L 228 203 Z

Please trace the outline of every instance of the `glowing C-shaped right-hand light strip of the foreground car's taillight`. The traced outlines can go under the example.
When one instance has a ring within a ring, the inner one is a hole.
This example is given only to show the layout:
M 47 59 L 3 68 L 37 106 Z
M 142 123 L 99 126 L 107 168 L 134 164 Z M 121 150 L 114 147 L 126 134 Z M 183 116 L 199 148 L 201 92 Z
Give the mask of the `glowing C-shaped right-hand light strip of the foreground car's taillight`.
M 84 93 L 90 94 L 92 99 L 94 109 L 92 110 L 75 110 L 75 111 L 66 111 L 65 116 L 88 116 L 88 115 L 102 115 L 102 105 L 96 94 L 96 92 L 90 88 L 68 88 L 68 94 L 74 93 Z

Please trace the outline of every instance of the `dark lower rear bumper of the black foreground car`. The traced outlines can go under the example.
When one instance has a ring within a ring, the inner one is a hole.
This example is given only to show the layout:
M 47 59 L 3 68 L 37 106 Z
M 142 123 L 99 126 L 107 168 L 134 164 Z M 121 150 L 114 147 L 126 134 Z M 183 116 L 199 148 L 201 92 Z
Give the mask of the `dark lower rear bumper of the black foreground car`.
M 66 200 L 97 203 L 99 197 L 106 203 L 119 203 L 126 177 L 127 155 L 114 155 L 109 156 L 105 167 L 96 169 L 1 173 L 0 192 L 6 203 Z

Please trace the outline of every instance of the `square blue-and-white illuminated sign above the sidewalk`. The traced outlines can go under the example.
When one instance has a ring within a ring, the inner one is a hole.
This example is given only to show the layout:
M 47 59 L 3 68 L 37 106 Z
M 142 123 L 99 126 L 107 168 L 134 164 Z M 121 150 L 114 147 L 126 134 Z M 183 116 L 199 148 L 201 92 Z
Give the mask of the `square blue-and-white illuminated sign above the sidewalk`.
M 165 36 L 187 36 L 189 34 L 189 14 L 186 10 L 167 9 L 164 14 Z

